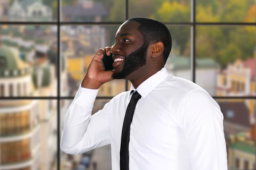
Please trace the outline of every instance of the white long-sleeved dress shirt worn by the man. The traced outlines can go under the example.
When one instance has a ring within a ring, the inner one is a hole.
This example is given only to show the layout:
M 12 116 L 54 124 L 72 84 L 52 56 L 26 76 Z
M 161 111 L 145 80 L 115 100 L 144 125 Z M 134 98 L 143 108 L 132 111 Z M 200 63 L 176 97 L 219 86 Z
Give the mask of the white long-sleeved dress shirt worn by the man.
M 130 126 L 130 170 L 227 170 L 223 115 L 203 88 L 162 68 L 136 90 L 142 97 Z M 112 170 L 120 170 L 130 91 L 91 115 L 98 90 L 80 86 L 67 110 L 61 150 L 79 154 L 111 144 Z

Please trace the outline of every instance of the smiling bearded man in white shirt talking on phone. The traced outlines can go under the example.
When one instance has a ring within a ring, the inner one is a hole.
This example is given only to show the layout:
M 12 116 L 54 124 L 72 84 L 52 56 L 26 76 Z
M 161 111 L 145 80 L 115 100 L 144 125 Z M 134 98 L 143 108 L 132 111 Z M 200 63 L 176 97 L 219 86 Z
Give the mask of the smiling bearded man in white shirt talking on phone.
M 119 27 L 115 40 L 92 58 L 67 110 L 61 150 L 79 154 L 111 144 L 112 170 L 227 170 L 218 104 L 200 86 L 164 68 L 171 51 L 167 27 L 131 18 Z M 103 71 L 101 58 L 110 51 L 115 69 Z M 112 79 L 130 80 L 131 90 L 91 115 L 97 89 Z M 139 97 L 131 109 L 135 93 Z

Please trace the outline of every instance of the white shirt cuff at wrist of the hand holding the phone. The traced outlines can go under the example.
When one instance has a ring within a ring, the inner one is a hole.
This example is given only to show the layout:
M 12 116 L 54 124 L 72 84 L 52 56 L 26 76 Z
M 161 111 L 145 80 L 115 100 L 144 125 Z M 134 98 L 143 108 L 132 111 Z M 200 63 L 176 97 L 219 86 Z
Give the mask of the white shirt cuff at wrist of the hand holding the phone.
M 83 88 L 80 84 L 74 103 L 80 106 L 91 106 L 94 104 L 98 91 L 99 89 Z

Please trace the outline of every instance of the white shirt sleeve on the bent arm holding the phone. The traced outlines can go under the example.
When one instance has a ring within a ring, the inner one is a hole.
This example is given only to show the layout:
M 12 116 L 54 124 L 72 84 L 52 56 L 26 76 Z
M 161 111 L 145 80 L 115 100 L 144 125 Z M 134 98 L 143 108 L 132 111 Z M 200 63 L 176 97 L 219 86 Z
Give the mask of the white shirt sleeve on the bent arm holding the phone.
M 79 154 L 110 144 L 109 103 L 91 115 L 98 90 L 82 88 L 81 84 L 67 110 L 61 150 L 67 154 Z

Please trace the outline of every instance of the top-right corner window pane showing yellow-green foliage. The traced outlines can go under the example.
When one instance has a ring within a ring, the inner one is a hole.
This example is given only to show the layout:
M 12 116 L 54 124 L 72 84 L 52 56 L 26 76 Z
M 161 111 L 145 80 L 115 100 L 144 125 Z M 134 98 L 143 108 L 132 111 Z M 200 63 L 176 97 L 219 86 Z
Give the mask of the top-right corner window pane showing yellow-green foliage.
M 196 0 L 196 22 L 255 22 L 254 0 Z

